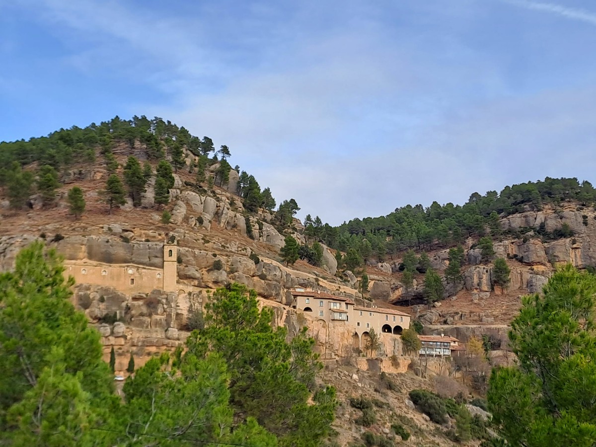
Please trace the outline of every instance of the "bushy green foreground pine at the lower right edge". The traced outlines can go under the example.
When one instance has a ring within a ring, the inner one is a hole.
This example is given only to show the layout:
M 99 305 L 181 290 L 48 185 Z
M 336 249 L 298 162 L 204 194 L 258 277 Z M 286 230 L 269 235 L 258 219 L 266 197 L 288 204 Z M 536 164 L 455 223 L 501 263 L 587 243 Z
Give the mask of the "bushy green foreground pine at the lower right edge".
M 558 270 L 511 322 L 516 367 L 493 371 L 488 402 L 508 445 L 596 442 L 596 277 Z

